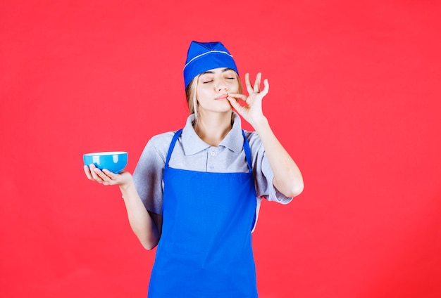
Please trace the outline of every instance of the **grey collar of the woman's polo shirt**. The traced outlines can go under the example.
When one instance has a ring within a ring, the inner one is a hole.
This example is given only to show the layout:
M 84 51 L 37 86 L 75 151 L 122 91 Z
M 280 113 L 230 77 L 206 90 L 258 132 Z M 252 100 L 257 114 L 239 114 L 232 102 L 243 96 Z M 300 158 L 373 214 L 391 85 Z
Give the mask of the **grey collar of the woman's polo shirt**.
M 242 136 L 242 124 L 239 115 L 232 112 L 232 128 L 223 138 L 219 146 L 226 147 L 234 152 L 240 153 L 244 144 Z M 199 138 L 193 128 L 194 114 L 187 118 L 184 129 L 182 129 L 182 147 L 185 155 L 193 155 L 206 148 L 211 147 L 209 144 Z

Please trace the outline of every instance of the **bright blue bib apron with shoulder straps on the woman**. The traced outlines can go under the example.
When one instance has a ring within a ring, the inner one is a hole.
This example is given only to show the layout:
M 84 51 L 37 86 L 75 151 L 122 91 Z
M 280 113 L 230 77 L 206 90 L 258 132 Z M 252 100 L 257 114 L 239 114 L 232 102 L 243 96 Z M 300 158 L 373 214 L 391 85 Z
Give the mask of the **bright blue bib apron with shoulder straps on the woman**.
M 181 133 L 173 136 L 163 172 L 163 227 L 148 297 L 256 298 L 248 140 L 242 131 L 247 173 L 189 171 L 168 167 Z

